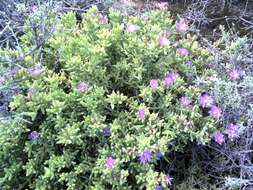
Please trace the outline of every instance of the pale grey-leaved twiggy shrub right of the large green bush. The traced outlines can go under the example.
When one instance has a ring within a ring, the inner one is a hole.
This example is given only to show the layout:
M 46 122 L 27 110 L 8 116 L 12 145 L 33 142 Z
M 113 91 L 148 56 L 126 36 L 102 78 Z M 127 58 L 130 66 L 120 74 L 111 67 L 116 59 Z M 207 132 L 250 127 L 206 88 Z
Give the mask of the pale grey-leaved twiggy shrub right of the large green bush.
M 246 36 L 240 37 L 235 30 L 220 29 L 222 37 L 209 46 L 216 76 L 211 83 L 206 82 L 206 87 L 224 110 L 223 125 L 229 129 L 224 133 L 229 132 L 230 135 L 223 146 L 210 144 L 199 155 L 208 160 L 204 167 L 209 169 L 205 170 L 204 175 L 214 177 L 221 188 L 250 189 L 253 177 L 252 40 Z M 231 130 L 231 123 L 238 128 Z

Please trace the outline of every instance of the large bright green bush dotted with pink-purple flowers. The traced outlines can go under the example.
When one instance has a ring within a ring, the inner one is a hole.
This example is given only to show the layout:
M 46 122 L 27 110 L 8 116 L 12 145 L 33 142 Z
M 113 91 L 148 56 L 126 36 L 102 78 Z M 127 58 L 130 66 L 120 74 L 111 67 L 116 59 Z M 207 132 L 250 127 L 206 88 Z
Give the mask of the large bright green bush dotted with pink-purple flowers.
M 209 142 L 220 122 L 194 82 L 209 58 L 162 11 L 63 15 L 13 76 L 19 117 L 0 127 L 2 189 L 169 188 L 159 159 Z

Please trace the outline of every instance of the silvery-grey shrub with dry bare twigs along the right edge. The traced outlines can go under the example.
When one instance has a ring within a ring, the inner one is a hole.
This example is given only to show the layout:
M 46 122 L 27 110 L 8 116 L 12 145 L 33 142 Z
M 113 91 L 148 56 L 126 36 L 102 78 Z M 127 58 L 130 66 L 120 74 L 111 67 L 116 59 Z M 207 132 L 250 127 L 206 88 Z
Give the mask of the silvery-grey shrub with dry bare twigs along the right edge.
M 201 82 L 223 110 L 223 142 L 190 144 L 184 154 L 171 155 L 174 177 L 183 176 L 175 189 L 252 189 L 252 40 L 220 29 L 218 41 L 203 41 L 215 72 Z

